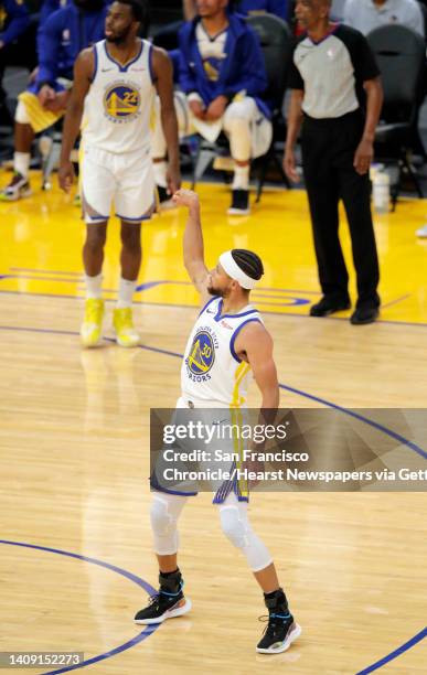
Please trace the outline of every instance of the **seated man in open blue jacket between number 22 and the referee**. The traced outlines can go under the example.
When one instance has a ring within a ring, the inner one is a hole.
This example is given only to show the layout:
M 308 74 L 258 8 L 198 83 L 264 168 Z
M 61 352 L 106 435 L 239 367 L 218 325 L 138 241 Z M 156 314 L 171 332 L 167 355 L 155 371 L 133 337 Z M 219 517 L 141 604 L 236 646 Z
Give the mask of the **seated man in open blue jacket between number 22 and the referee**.
M 249 213 L 250 158 L 271 142 L 270 108 L 259 42 L 244 19 L 227 11 L 227 0 L 198 0 L 199 15 L 180 31 L 180 87 L 175 96 L 181 136 L 199 132 L 214 142 L 223 130 L 235 162 L 229 214 Z M 167 143 L 159 115 L 152 157 L 159 196 L 167 199 Z

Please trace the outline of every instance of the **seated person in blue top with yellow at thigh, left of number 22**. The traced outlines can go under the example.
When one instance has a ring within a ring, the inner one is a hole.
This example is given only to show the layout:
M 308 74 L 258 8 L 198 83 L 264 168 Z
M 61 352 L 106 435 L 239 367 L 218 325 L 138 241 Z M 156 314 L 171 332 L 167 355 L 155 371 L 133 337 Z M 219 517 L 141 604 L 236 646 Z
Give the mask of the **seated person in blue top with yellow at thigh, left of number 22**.
M 39 71 L 35 82 L 19 96 L 14 175 L 0 193 L 1 201 L 15 201 L 31 194 L 29 168 L 34 136 L 64 115 L 74 61 L 83 49 L 103 40 L 105 17 L 103 0 L 73 0 L 46 20 L 39 34 Z

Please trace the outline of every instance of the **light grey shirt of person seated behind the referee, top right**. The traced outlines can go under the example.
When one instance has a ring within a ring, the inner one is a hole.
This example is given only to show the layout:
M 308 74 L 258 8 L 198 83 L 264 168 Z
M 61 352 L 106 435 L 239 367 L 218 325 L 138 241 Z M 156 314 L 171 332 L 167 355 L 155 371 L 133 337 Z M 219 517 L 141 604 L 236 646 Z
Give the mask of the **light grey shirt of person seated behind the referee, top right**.
M 424 17 L 417 0 L 346 0 L 343 21 L 364 35 L 380 25 L 402 23 L 424 38 Z

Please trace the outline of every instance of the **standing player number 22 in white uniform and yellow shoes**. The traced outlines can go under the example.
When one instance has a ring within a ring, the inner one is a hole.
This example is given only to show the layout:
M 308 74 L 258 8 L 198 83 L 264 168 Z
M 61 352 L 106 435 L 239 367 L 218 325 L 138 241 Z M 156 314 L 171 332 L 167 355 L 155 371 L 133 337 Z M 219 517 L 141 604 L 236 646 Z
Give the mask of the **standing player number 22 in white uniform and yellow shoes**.
M 60 183 L 70 191 L 74 178 L 70 156 L 84 113 L 81 162 L 82 204 L 87 224 L 83 248 L 87 299 L 81 329 L 84 346 L 96 346 L 102 339 L 102 268 L 113 202 L 121 221 L 122 244 L 113 323 L 118 344 L 131 347 L 140 342 L 131 302 L 141 264 L 141 221 L 150 218 L 153 212 L 150 119 L 156 89 L 168 139 L 168 186 L 172 193 L 180 186 L 172 66 L 162 50 L 137 36 L 146 15 L 145 0 L 113 2 L 106 18 L 106 40 L 81 52 L 74 68 Z

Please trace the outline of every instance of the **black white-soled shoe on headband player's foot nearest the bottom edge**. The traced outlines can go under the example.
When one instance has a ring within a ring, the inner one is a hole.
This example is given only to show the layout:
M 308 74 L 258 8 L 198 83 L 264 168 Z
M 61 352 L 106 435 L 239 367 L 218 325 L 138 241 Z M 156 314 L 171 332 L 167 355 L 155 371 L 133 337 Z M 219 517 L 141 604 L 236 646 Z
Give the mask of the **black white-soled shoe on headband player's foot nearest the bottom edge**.
M 295 622 L 289 612 L 286 596 L 281 588 L 274 598 L 265 598 L 268 609 L 268 625 L 256 651 L 260 654 L 280 654 L 291 645 L 301 634 L 301 628 Z M 260 617 L 263 619 L 263 617 Z

